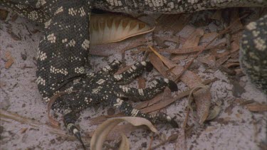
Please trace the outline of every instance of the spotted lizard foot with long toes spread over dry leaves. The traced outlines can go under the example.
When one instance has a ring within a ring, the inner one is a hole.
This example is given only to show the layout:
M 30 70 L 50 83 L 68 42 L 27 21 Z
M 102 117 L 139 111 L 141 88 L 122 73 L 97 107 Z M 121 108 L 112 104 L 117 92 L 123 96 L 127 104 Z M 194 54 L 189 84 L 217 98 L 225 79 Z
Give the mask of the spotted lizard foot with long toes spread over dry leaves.
M 162 92 L 164 87 L 169 87 L 172 91 L 177 91 L 176 83 L 166 78 L 159 78 L 152 81 L 150 87 L 145 89 L 127 87 L 125 82 L 117 80 L 117 76 L 125 78 L 128 77 L 125 75 L 129 75 L 133 80 L 135 77 L 141 75 L 144 70 L 151 70 L 152 65 L 151 63 L 144 61 L 132 65 L 131 68 L 136 68 L 136 70 L 130 68 L 126 71 L 127 74 L 121 73 L 120 75 L 112 75 L 112 73 L 117 71 L 119 65 L 119 61 L 113 61 L 110 65 L 98 71 L 98 73 L 90 73 L 86 75 L 81 79 L 82 84 L 78 85 L 80 87 L 78 92 L 71 92 L 68 95 L 64 95 L 57 103 L 58 106 L 54 105 L 53 107 L 64 106 L 66 107 L 63 112 L 64 114 L 76 114 L 86 107 L 101 103 L 116 107 L 128 116 L 145 117 L 152 122 L 172 122 L 172 119 L 166 114 L 143 114 L 139 110 L 134 109 L 127 102 L 124 102 L 122 97 L 149 100 L 152 97 L 155 97 L 159 92 Z M 77 85 L 72 89 L 77 89 Z M 74 122 L 68 122 L 68 124 L 70 123 Z

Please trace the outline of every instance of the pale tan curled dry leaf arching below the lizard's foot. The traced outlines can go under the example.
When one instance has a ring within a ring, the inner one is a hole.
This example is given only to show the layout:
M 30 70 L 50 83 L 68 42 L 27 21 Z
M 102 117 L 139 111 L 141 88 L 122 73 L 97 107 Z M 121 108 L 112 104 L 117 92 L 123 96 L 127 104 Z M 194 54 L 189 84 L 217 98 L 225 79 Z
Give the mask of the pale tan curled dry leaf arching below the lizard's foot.
M 134 126 L 146 125 L 150 128 L 152 132 L 158 134 L 157 129 L 152 125 L 150 121 L 141 117 L 117 117 L 114 119 L 108 119 L 98 126 L 98 129 L 95 130 L 93 137 L 90 141 L 90 149 L 91 150 L 99 150 L 102 149 L 103 143 L 110 133 L 110 131 L 120 122 L 127 121 Z

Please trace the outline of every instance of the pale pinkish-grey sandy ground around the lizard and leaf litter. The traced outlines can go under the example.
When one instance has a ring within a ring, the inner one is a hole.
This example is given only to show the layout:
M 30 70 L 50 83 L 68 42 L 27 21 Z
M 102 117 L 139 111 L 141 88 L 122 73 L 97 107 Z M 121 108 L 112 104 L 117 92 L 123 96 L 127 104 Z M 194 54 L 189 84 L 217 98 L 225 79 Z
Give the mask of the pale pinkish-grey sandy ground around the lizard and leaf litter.
M 40 32 L 35 33 L 36 29 L 40 28 L 20 17 L 16 21 L 11 21 L 10 16 L 6 21 L 0 21 L 1 110 L 16 113 L 21 117 L 41 123 L 38 126 L 32 126 L 1 116 L 1 149 L 79 149 L 80 143 L 78 141 L 53 134 L 48 129 L 46 104 L 42 102 L 35 83 L 36 49 L 38 48 L 38 39 L 41 36 Z M 21 39 L 16 39 L 14 36 L 12 38 L 8 33 L 9 30 Z M 123 48 L 130 42 L 131 40 L 123 42 L 121 47 L 116 48 Z M 14 58 L 14 64 L 6 69 L 4 64 L 8 51 Z M 135 51 L 137 49 L 127 51 L 127 65 L 132 64 L 135 60 L 141 60 L 142 54 L 132 55 L 132 52 Z M 23 60 L 21 54 L 26 55 L 26 60 Z M 90 65 L 94 66 L 94 70 L 99 70 L 115 58 L 120 60 L 120 54 L 111 55 L 109 58 L 90 56 Z M 241 105 L 242 102 L 249 100 L 266 104 L 266 95 L 256 90 L 246 76 L 241 77 L 240 80 L 231 80 L 226 73 L 222 73 L 220 70 L 215 70 L 212 73 L 205 70 L 204 65 L 199 65 L 197 68 L 197 73 L 202 80 L 214 77 L 219 79 L 211 84 L 210 91 L 212 102 L 221 104 L 221 112 L 216 119 L 206 122 L 204 125 L 193 127 L 192 132 L 187 136 L 187 149 L 261 149 L 264 144 L 266 146 L 267 112 L 250 112 L 244 105 Z M 158 73 L 154 70 L 143 76 L 152 77 L 153 75 L 158 75 Z M 178 85 L 179 91 L 174 95 L 187 90 L 184 83 L 179 82 Z M 177 122 L 182 124 L 186 114 L 186 105 L 187 99 L 183 98 L 169 105 L 163 112 L 171 117 L 177 116 Z M 78 121 L 83 136 L 96 127 L 89 125 L 90 120 L 88 118 L 107 113 L 108 108 L 101 105 L 100 107 L 85 109 Z M 156 127 L 159 132 L 166 136 L 176 133 L 182 134 L 181 129 L 173 129 L 169 125 L 159 124 Z M 68 135 L 66 128 L 62 125 L 61 129 L 63 134 Z M 137 129 L 127 136 L 130 138 L 132 149 L 147 149 L 152 133 L 145 129 Z M 179 145 L 179 140 L 181 139 L 159 146 L 158 149 L 174 149 Z M 85 143 L 88 142 L 85 141 Z M 159 138 L 155 137 L 152 146 L 159 144 L 159 142 Z M 117 141 L 114 141 L 110 144 L 116 145 L 116 143 Z

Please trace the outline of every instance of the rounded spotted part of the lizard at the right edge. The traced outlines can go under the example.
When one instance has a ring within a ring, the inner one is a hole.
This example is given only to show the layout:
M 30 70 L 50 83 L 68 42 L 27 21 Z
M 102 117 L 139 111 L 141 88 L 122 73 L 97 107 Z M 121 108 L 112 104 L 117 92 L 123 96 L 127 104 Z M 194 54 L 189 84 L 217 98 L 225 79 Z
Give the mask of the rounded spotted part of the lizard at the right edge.
M 240 54 L 241 67 L 249 79 L 267 94 L 267 15 L 246 26 Z

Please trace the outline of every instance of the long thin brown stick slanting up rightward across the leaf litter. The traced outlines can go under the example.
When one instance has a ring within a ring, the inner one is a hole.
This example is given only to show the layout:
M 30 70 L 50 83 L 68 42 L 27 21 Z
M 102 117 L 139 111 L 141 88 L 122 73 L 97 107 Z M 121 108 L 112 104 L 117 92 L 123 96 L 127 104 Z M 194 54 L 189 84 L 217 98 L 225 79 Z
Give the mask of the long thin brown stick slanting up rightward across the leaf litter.
M 227 28 L 225 28 L 223 31 L 221 31 L 217 36 L 215 36 L 209 43 L 207 43 L 204 48 L 202 48 L 202 50 L 200 50 L 196 55 L 194 55 L 194 58 L 185 66 L 184 70 L 182 70 L 182 73 L 180 73 L 179 75 L 177 75 L 177 77 L 175 78 L 175 82 L 178 82 L 179 78 L 184 74 L 184 72 L 192 65 L 193 61 L 206 49 L 206 47 L 208 47 L 213 41 L 216 40 L 216 38 L 218 38 L 219 36 L 228 33 L 229 29 L 232 28 L 234 25 L 236 25 L 237 21 L 240 21 L 242 18 L 246 17 L 247 15 L 241 16 L 239 19 L 237 19 L 236 21 L 234 21 L 234 23 L 232 23 L 230 26 L 228 26 Z

